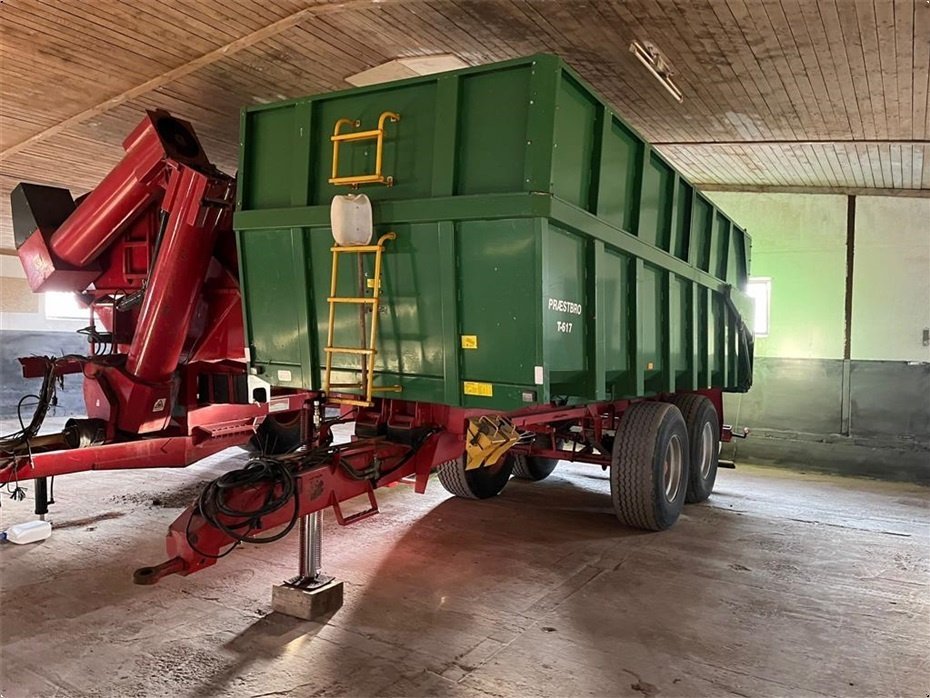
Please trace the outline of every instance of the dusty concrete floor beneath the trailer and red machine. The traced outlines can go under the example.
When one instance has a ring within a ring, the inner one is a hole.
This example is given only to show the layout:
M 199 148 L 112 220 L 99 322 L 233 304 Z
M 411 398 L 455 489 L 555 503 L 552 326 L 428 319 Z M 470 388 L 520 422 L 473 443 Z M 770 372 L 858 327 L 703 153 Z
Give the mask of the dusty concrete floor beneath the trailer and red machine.
M 134 586 L 229 452 L 60 478 L 56 530 L 0 548 L 0 693 L 20 696 L 920 696 L 930 491 L 740 467 L 660 534 L 619 526 L 597 468 L 490 501 L 397 487 L 327 513 L 325 625 L 270 612 L 296 535 Z M 5 498 L 3 526 L 30 518 Z

